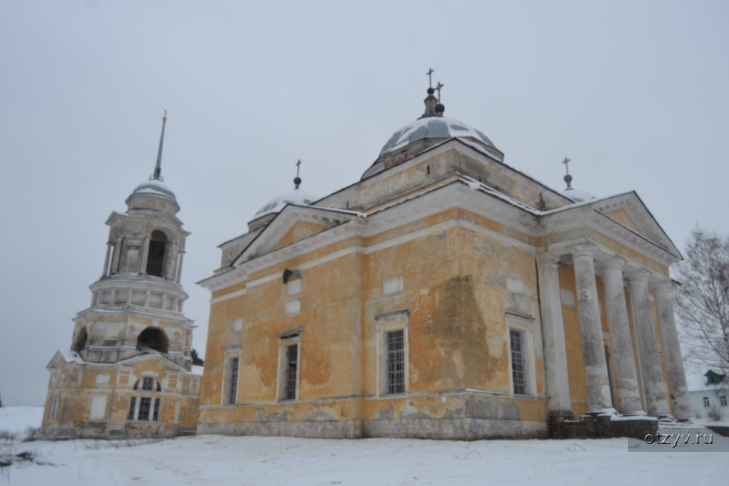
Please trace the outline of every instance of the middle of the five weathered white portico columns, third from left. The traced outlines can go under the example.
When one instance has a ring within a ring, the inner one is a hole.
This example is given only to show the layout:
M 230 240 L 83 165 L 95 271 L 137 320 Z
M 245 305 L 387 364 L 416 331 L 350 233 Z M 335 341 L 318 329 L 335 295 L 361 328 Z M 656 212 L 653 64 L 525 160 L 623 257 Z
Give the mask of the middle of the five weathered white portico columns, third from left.
M 615 356 L 615 394 L 617 409 L 623 415 L 644 415 L 636 372 L 628 307 L 625 304 L 623 260 L 614 258 L 604 264 L 602 282 L 605 291 L 605 313 L 610 329 L 610 350 Z

